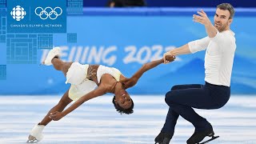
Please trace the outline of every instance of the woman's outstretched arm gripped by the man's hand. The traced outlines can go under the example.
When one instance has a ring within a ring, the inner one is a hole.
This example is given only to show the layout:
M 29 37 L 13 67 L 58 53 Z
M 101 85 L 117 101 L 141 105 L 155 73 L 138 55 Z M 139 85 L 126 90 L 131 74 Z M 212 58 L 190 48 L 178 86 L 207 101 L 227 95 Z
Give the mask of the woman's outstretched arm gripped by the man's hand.
M 169 55 L 166 56 L 166 59 L 168 59 L 170 62 L 173 62 L 175 57 Z M 163 58 L 156 61 L 147 62 L 131 78 L 126 78 L 122 83 L 126 86 L 126 88 L 134 86 L 138 82 L 138 79 L 142 77 L 142 74 L 163 62 Z

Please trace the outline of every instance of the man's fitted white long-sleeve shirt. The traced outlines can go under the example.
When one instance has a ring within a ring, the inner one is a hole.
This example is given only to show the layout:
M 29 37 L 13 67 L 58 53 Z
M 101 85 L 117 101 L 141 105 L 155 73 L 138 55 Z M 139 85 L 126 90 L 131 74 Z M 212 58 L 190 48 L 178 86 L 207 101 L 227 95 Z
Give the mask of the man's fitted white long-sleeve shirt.
M 190 52 L 206 50 L 205 81 L 219 86 L 230 86 L 236 49 L 234 32 L 225 30 L 214 38 L 202 38 L 188 43 Z

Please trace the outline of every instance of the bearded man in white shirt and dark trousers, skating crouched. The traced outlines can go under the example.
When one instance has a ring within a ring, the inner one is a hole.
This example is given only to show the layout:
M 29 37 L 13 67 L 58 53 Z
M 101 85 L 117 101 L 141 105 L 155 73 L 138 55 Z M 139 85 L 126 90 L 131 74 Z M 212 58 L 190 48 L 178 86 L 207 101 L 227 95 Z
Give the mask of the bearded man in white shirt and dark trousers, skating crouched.
M 165 59 L 166 55 L 176 56 L 206 50 L 206 83 L 173 86 L 166 93 L 166 103 L 170 107 L 161 133 L 154 140 L 156 143 L 170 142 L 179 115 L 195 127 L 194 134 L 186 141 L 188 144 L 201 142 L 206 136 L 212 137 L 206 142 L 218 138 L 214 137 L 210 122 L 198 115 L 192 107 L 218 109 L 224 106 L 230 98 L 230 78 L 236 49 L 234 32 L 230 30 L 233 16 L 234 8 L 230 3 L 217 6 L 214 25 L 211 24 L 203 10 L 198 11 L 198 15 L 193 15 L 194 22 L 204 25 L 208 36 L 164 54 Z M 168 63 L 168 60 L 165 59 L 165 63 Z

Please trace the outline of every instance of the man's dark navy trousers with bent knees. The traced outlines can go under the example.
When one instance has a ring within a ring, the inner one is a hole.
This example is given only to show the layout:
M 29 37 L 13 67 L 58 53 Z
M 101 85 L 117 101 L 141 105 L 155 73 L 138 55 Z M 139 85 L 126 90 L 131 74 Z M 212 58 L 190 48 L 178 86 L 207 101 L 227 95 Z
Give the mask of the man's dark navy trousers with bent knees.
M 205 85 L 177 85 L 166 93 L 166 103 L 170 106 L 166 116 L 166 123 L 162 132 L 174 134 L 178 116 L 181 115 L 191 122 L 196 131 L 210 128 L 206 118 L 202 118 L 193 109 L 218 109 L 226 104 L 230 98 L 230 87 L 217 86 L 206 82 Z

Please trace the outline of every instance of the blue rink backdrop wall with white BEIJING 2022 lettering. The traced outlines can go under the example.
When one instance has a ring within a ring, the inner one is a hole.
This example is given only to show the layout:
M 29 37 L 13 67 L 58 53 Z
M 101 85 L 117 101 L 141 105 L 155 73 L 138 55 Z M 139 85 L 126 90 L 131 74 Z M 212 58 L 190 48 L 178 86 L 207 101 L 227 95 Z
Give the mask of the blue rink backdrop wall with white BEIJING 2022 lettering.
M 198 9 L 85 9 L 84 15 L 67 17 L 67 33 L 77 34 L 69 43 L 66 34 L 54 34 L 66 61 L 114 66 L 130 77 L 145 62 L 162 58 L 167 50 L 206 37 L 204 26 L 192 22 Z M 213 20 L 214 9 L 204 9 Z M 179 12 L 177 12 L 179 11 Z M 231 79 L 232 94 L 256 94 L 255 10 L 238 9 L 231 29 L 237 50 Z M 0 65 L 6 63 L 6 44 L 0 43 Z M 66 79 L 53 66 L 39 66 L 48 50 L 38 50 L 37 64 L 6 65 L 0 94 L 60 94 Z M 204 83 L 204 52 L 179 56 L 146 72 L 131 94 L 165 94 L 171 86 Z

